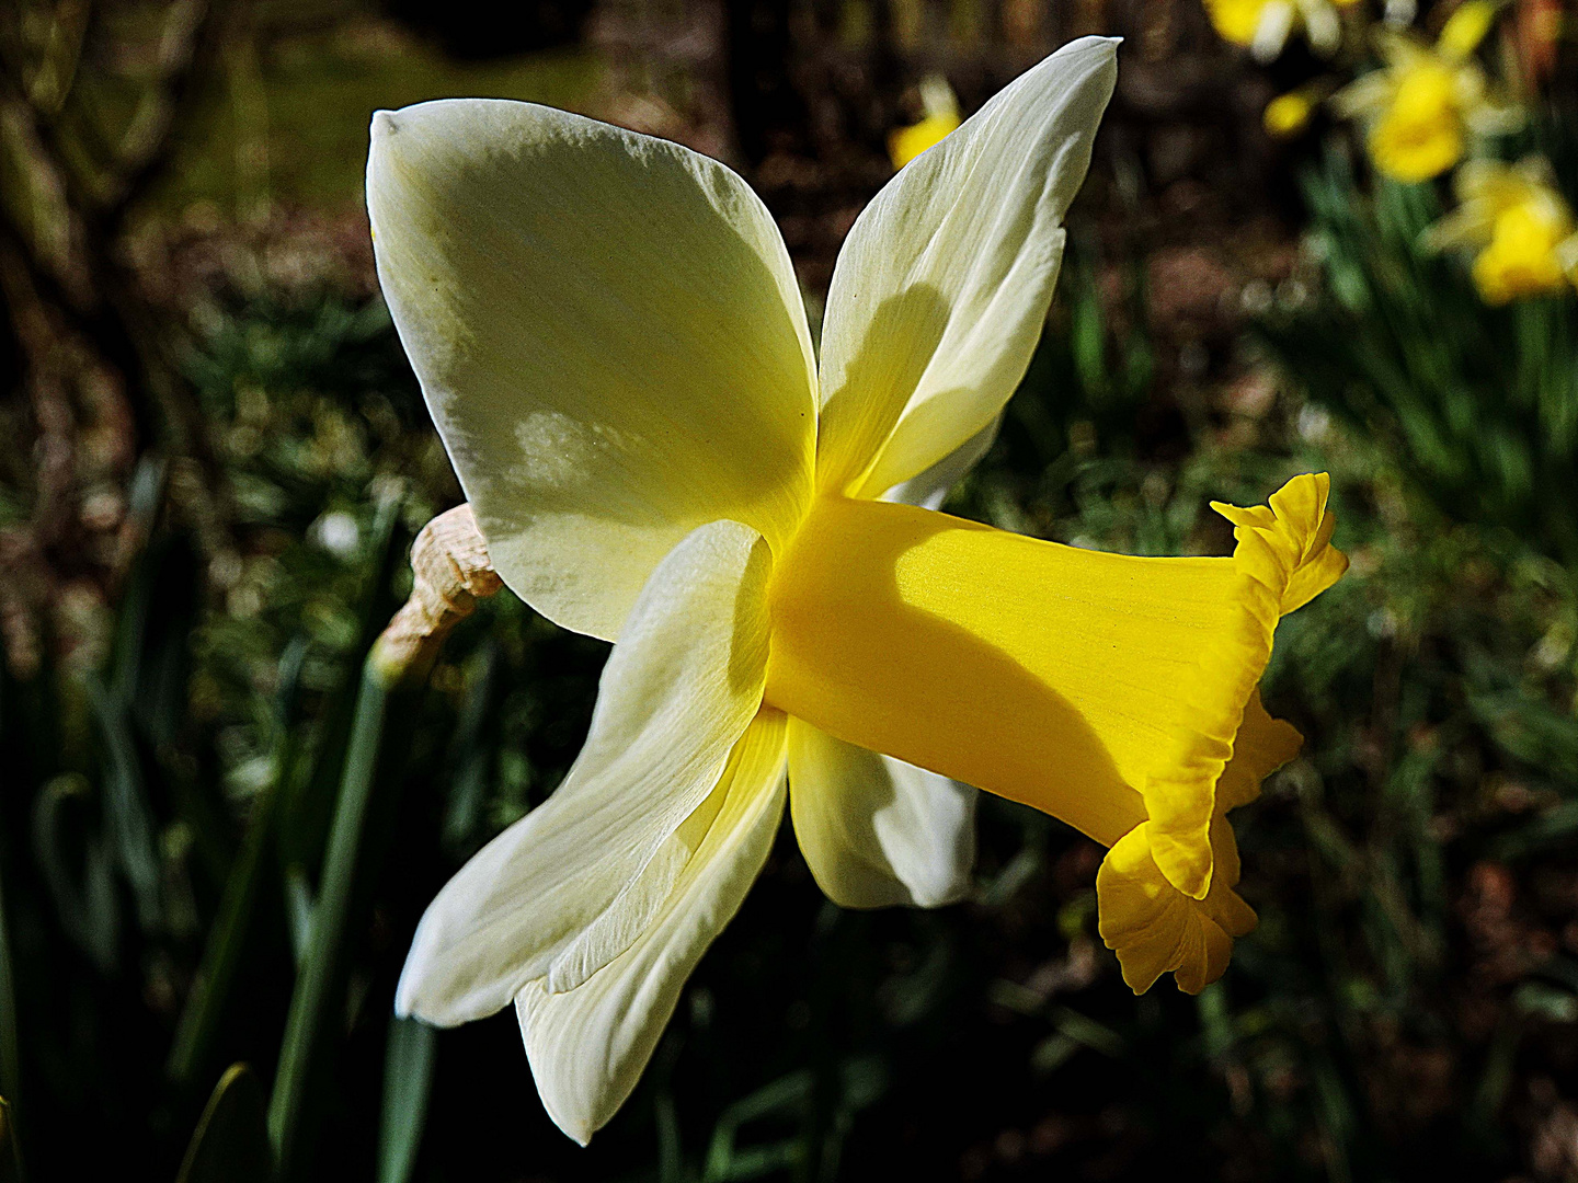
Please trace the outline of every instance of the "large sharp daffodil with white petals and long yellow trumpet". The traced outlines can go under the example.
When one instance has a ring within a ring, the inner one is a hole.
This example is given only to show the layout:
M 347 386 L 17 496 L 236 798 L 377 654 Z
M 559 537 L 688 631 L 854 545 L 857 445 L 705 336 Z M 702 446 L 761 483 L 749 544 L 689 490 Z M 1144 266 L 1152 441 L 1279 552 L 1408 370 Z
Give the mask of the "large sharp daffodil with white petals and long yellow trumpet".
M 1199 989 L 1253 924 L 1223 814 L 1297 746 L 1256 683 L 1343 569 L 1324 478 L 1221 506 L 1231 558 L 925 508 L 1029 364 L 1114 79 L 1114 41 L 1075 41 L 899 172 L 839 254 L 821 364 L 716 161 L 521 103 L 374 118 L 379 278 L 492 563 L 615 642 L 579 759 L 432 902 L 396 1008 L 513 1002 L 571 1137 L 634 1087 L 786 798 L 847 907 L 966 891 L 955 781 L 1062 817 L 1111 847 L 1135 989 Z

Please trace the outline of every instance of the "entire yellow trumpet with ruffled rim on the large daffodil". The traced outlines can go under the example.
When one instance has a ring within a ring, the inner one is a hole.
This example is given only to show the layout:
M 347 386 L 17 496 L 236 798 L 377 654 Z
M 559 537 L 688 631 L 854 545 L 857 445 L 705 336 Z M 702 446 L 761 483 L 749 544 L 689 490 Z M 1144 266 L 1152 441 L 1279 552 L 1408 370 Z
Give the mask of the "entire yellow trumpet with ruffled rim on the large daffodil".
M 1231 845 L 1217 822 L 1299 749 L 1256 694 L 1272 633 L 1346 568 L 1326 494 L 1303 476 L 1270 509 L 1218 506 L 1232 558 L 1128 558 L 822 497 L 773 574 L 767 700 L 1103 845 L 1127 838 L 1101 934 L 1136 991 L 1168 970 L 1198 991 L 1253 926 L 1236 858 L 1212 893 Z M 1136 909 L 1136 875 L 1168 907 Z

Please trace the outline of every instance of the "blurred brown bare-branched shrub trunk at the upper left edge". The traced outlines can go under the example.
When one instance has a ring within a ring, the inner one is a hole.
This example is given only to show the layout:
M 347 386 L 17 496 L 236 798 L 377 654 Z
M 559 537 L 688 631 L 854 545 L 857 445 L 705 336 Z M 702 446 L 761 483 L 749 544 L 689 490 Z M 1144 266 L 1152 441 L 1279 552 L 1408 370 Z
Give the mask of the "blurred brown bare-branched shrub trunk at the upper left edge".
M 24 481 L 27 524 L 0 532 L 0 628 L 21 677 L 62 585 L 107 598 L 139 549 L 148 522 L 126 486 L 140 456 L 174 461 L 213 541 L 219 472 L 200 410 L 122 251 L 237 9 L 170 0 L 150 27 L 145 9 L 134 25 L 103 0 L 0 6 L 0 303 L 17 361 L 0 397 L 27 424 L 8 448 L 33 461 L 6 473 Z

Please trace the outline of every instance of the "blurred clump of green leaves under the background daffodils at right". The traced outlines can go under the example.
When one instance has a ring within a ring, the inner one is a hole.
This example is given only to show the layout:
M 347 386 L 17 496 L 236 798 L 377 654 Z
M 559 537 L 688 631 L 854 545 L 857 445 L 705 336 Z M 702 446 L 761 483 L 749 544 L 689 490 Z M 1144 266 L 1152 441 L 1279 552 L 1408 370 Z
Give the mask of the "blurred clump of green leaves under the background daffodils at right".
M 1430 185 L 1363 192 L 1327 151 L 1303 185 L 1319 295 L 1261 336 L 1311 404 L 1340 415 L 1460 522 L 1578 562 L 1578 301 L 1488 308 L 1461 259 L 1431 254 Z

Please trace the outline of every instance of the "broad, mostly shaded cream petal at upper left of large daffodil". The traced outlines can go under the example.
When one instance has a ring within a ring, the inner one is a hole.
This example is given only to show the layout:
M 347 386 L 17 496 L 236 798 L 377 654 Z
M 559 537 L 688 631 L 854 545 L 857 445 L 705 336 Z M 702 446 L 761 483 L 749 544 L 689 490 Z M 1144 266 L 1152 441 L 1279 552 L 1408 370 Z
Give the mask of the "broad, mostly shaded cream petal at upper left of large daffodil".
M 716 161 L 530 103 L 372 118 L 379 282 L 503 580 L 612 639 L 697 525 L 778 543 L 814 451 L 783 238 Z

